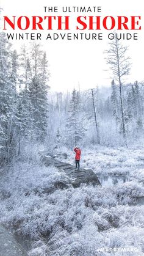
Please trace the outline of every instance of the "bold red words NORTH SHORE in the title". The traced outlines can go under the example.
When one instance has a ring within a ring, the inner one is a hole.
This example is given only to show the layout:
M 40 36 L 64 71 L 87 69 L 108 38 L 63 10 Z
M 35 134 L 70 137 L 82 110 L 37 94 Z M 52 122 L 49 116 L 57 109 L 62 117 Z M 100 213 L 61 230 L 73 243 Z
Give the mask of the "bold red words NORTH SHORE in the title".
M 141 16 L 3 16 L 3 30 L 70 30 L 74 24 L 76 30 L 140 30 Z

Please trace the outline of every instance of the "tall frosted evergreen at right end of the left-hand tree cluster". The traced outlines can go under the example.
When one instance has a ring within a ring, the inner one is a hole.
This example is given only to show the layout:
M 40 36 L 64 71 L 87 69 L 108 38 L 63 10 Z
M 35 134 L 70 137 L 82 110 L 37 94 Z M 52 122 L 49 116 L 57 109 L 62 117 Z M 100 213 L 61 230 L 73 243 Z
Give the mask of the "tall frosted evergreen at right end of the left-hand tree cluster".
M 34 137 L 44 141 L 48 128 L 48 61 L 39 44 L 32 45 L 32 82 L 29 84 L 29 98 L 32 104 Z

